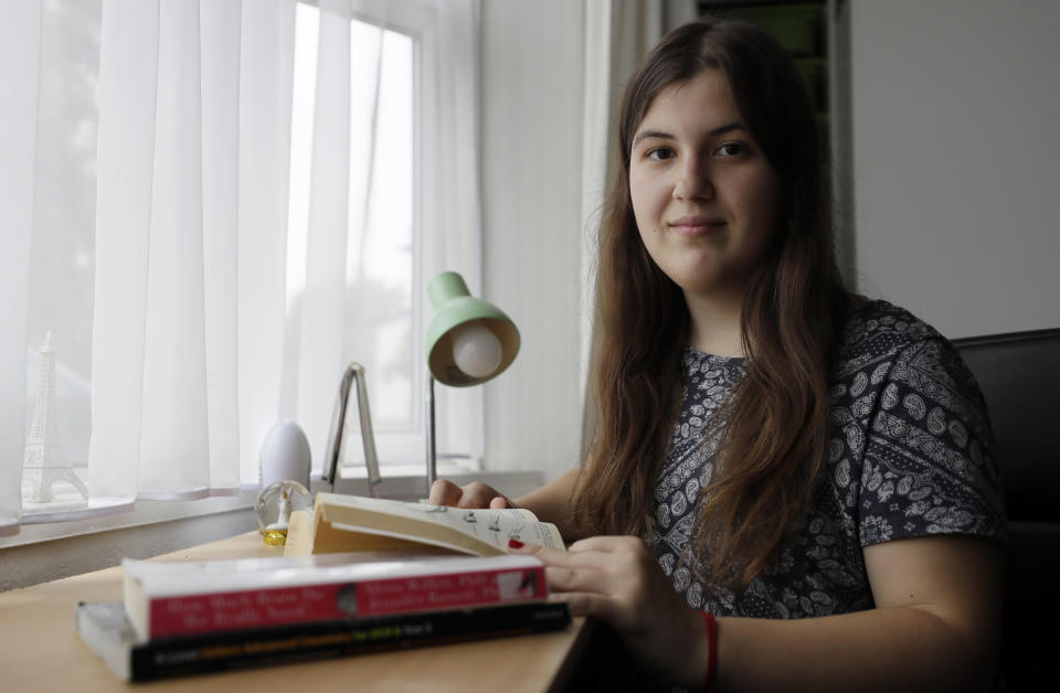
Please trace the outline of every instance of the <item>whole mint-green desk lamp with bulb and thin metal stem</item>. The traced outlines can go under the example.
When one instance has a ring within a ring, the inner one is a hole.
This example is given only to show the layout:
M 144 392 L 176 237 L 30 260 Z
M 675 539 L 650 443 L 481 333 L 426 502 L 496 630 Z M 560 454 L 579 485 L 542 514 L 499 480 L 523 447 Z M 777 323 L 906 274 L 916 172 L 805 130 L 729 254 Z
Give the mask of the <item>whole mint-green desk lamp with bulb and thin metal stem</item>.
M 452 387 L 478 385 L 499 375 L 519 353 L 519 330 L 511 318 L 467 290 L 464 277 L 444 271 L 427 284 L 434 318 L 427 326 L 427 493 L 437 476 L 434 436 L 434 382 Z

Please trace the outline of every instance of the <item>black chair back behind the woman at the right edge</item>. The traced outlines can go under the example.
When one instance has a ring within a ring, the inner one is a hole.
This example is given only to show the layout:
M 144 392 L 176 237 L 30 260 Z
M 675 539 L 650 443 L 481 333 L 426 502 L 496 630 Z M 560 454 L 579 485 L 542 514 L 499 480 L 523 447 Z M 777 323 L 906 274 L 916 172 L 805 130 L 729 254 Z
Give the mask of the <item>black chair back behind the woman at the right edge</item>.
M 1001 671 L 1014 691 L 1060 682 L 1060 329 L 954 340 L 990 415 L 1011 542 Z

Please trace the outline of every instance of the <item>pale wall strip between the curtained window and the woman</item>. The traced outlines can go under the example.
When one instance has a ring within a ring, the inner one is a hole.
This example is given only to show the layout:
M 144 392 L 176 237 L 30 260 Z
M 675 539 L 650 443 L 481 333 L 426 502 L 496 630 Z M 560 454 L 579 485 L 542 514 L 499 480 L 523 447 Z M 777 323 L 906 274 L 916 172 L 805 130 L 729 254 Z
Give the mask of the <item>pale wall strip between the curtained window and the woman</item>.
M 577 463 L 583 8 L 483 3 L 485 296 L 519 326 L 486 384 L 486 465 L 551 479 Z

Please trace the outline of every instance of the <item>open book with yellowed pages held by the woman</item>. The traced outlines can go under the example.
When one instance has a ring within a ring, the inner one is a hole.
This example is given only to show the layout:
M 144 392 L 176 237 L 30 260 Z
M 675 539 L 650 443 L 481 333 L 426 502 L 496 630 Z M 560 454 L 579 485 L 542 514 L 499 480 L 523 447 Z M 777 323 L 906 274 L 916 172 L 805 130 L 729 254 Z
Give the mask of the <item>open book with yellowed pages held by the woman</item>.
M 507 553 L 508 540 L 563 548 L 554 524 L 529 510 L 462 509 L 407 501 L 317 493 L 312 511 L 292 513 L 284 555 L 351 551 Z

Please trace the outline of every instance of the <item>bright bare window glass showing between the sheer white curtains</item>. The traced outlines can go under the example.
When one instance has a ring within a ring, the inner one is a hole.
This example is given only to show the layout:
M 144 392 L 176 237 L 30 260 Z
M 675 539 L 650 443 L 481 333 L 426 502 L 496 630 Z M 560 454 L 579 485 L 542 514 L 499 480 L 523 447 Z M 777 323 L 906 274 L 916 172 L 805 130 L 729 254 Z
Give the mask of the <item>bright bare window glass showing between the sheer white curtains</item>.
M 287 241 L 287 339 L 301 333 L 306 297 L 320 10 L 299 2 L 295 14 L 290 217 Z M 413 227 L 415 57 L 413 35 L 353 18 L 349 38 L 349 204 L 341 334 L 344 353 L 370 374 L 373 424 L 383 461 L 422 455 L 416 367 Z M 365 326 L 370 326 L 365 329 Z M 297 377 L 299 349 L 285 350 L 284 372 Z M 340 373 L 333 376 L 338 387 Z M 294 394 L 288 384 L 287 396 Z M 327 395 L 316 396 L 328 402 Z M 297 402 L 287 402 L 292 411 Z M 358 436 L 357 427 L 352 426 Z M 348 441 L 349 443 L 349 441 Z M 359 450 L 360 445 L 347 449 Z M 322 455 L 315 455 L 321 459 Z

